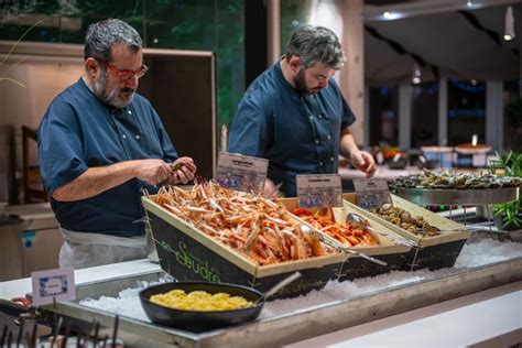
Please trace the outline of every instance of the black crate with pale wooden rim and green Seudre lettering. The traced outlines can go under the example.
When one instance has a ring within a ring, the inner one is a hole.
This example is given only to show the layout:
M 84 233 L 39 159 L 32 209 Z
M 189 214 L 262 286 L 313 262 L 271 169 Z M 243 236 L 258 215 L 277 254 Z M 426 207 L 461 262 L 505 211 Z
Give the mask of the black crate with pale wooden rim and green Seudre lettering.
M 304 260 L 258 265 L 229 247 L 182 220 L 154 202 L 142 197 L 151 222 L 161 268 L 178 281 L 232 283 L 267 292 L 295 271 L 302 276 L 271 300 L 294 297 L 319 290 L 337 279 L 347 255 L 334 253 Z

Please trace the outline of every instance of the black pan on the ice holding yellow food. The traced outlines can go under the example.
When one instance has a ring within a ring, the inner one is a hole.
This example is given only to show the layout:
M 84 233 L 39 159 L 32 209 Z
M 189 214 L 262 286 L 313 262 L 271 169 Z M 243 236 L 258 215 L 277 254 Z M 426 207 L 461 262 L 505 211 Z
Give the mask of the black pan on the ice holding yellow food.
M 186 293 L 192 291 L 206 291 L 209 294 L 222 292 L 231 296 L 242 296 L 250 302 L 260 301 L 254 306 L 248 308 L 215 312 L 174 309 L 149 301 L 152 295 L 164 294 L 174 289 L 184 290 Z M 142 290 L 140 292 L 140 301 L 143 309 L 153 323 L 192 331 L 204 331 L 255 319 L 263 308 L 264 295 L 254 289 L 242 285 L 209 282 L 172 282 Z

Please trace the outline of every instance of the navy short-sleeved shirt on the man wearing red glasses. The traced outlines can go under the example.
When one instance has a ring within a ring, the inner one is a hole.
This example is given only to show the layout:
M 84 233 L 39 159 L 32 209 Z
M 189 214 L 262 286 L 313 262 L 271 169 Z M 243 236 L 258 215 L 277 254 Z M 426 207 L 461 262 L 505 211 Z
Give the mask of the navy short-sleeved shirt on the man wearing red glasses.
M 128 107 L 113 109 L 99 101 L 80 78 L 45 112 L 39 129 L 39 156 L 42 180 L 52 195 L 89 167 L 142 159 L 172 162 L 177 153 L 145 98 L 135 95 Z M 87 199 L 52 199 L 51 205 L 65 229 L 140 236 L 144 232 L 142 188 L 157 191 L 134 178 Z

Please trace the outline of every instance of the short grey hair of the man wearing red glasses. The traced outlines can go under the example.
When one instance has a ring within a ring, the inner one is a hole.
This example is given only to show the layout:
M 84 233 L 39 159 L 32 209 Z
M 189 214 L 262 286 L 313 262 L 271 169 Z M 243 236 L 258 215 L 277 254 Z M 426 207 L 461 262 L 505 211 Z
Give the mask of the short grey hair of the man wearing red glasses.
M 140 34 L 121 20 L 108 19 L 90 24 L 85 35 L 84 57 L 110 62 L 111 48 L 116 44 L 127 45 L 134 52 L 142 47 Z

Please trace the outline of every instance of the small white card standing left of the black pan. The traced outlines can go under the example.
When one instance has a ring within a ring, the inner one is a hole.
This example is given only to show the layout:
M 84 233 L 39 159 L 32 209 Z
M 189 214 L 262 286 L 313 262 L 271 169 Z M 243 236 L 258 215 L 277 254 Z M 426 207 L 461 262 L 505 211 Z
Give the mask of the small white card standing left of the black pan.
M 73 268 L 31 272 L 31 278 L 35 306 L 53 303 L 53 297 L 56 301 L 76 298 Z

